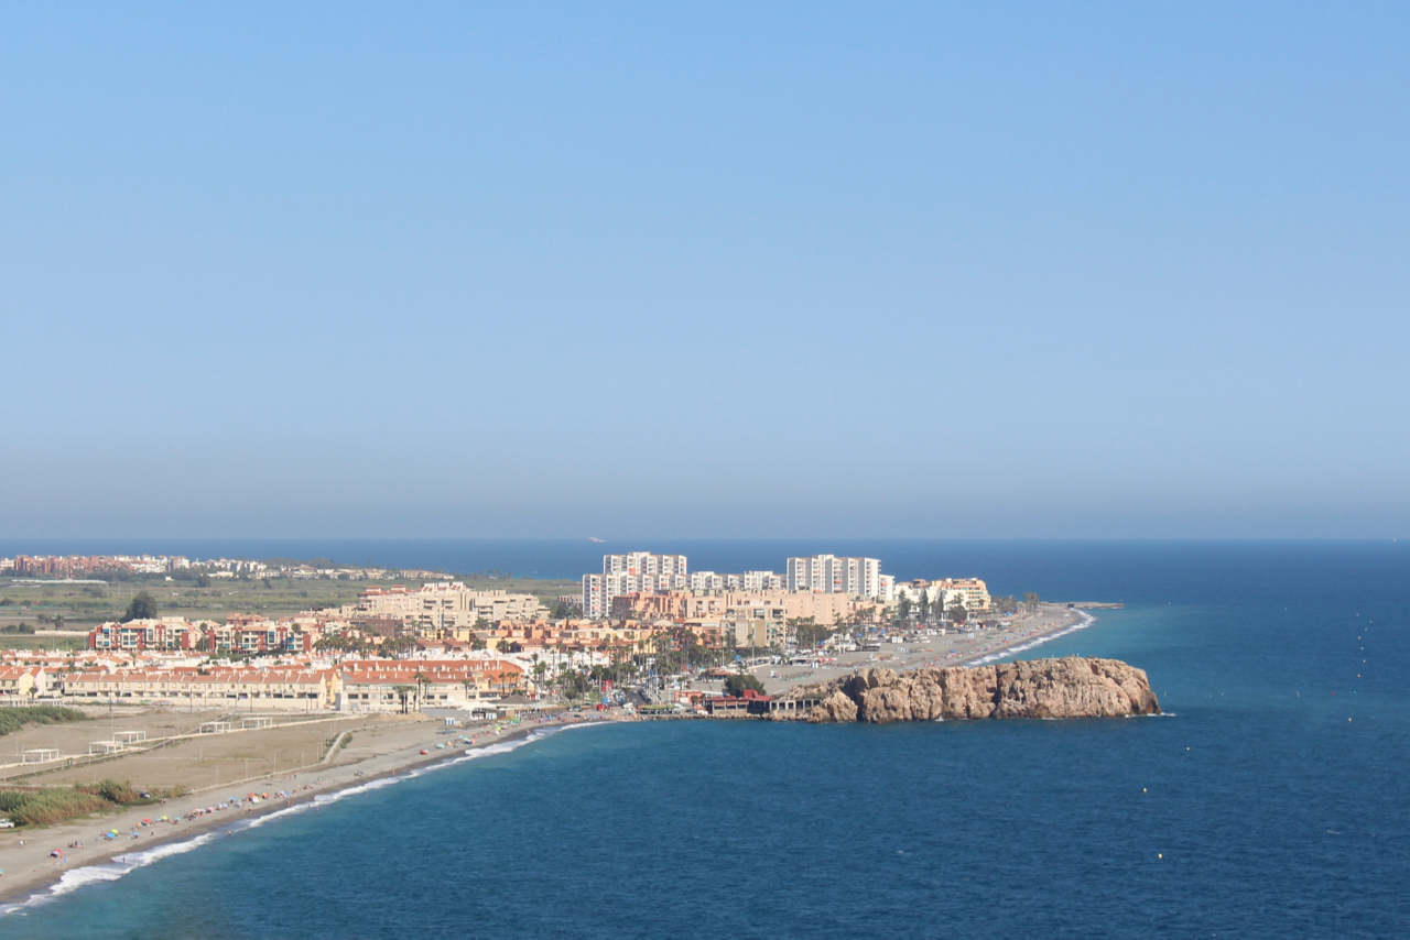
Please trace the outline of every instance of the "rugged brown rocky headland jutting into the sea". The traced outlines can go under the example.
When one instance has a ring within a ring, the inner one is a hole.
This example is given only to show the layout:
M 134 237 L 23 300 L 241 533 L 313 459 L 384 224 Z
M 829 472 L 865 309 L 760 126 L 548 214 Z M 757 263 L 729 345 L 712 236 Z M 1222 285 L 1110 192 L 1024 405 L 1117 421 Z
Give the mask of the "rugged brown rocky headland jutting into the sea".
M 819 705 L 808 722 L 933 722 L 936 719 L 1066 719 L 1159 715 L 1144 669 L 1120 660 L 1031 660 L 998 665 L 862 669 L 802 685 L 781 699 Z M 778 715 L 778 713 L 776 713 Z

